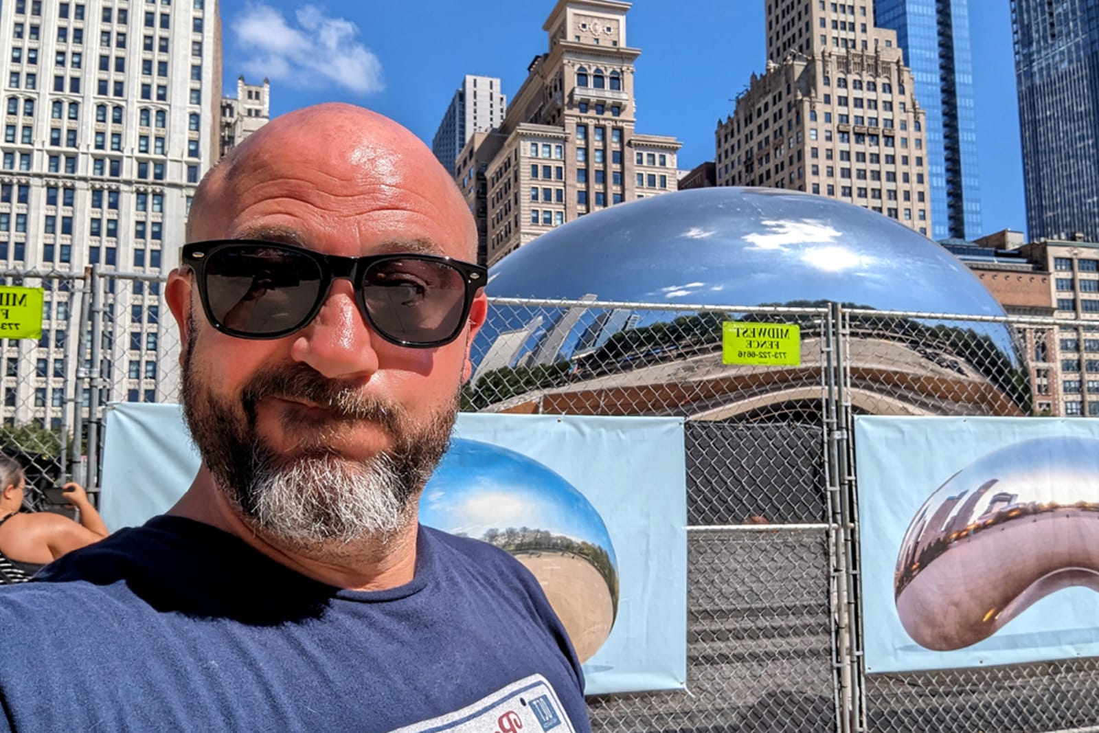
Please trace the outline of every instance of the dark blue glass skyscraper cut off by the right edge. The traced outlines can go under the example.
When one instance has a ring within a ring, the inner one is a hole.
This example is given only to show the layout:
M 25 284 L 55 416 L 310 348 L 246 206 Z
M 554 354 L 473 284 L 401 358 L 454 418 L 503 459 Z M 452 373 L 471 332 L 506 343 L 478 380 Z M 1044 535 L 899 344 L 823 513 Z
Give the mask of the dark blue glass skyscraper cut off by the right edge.
M 1011 0 L 1032 240 L 1099 242 L 1099 3 Z

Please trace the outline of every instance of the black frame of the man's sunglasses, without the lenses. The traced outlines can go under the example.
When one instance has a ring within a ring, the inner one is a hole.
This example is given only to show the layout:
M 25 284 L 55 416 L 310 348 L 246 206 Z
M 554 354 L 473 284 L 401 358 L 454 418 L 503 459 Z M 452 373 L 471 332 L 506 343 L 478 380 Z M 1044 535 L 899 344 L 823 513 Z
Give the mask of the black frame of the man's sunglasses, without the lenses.
M 292 327 L 271 333 L 255 334 L 231 329 L 214 316 L 213 310 L 210 307 L 209 292 L 207 291 L 206 264 L 221 249 L 231 247 L 236 248 L 241 246 L 247 247 L 249 245 L 293 252 L 317 263 L 318 269 L 321 273 L 321 284 L 318 289 L 317 302 L 313 303 L 309 313 Z M 262 240 L 210 240 L 206 242 L 192 242 L 190 244 L 185 244 L 180 247 L 179 253 L 180 265 L 193 270 L 196 275 L 199 288 L 199 299 L 202 302 L 202 310 L 206 312 L 207 320 L 210 324 L 226 335 L 234 336 L 236 338 L 251 338 L 255 341 L 282 338 L 284 336 L 289 336 L 290 334 L 304 329 L 313 322 L 313 319 L 317 318 L 317 314 L 324 306 L 324 301 L 328 299 L 329 291 L 332 288 L 333 280 L 343 278 L 351 280 L 352 287 L 355 290 L 355 302 L 358 304 L 359 313 L 363 314 L 363 318 L 370 326 L 370 330 L 384 340 L 391 344 L 406 346 L 408 348 L 432 348 L 435 346 L 445 346 L 454 341 L 459 333 L 462 333 L 462 329 L 466 324 L 466 319 L 469 318 L 469 310 L 473 308 L 473 302 L 477 296 L 477 291 L 484 288 L 488 280 L 488 268 L 482 267 L 481 265 L 475 265 L 473 263 L 454 259 L 453 257 L 444 257 L 442 255 L 429 255 L 412 252 L 368 255 L 365 257 L 343 257 L 341 255 L 329 255 L 323 252 L 317 252 L 315 249 L 299 247 L 293 244 L 284 244 L 281 242 L 264 242 Z M 407 341 L 386 333 L 382 329 L 376 325 L 375 320 L 370 315 L 370 311 L 366 306 L 366 296 L 364 295 L 360 286 L 367 270 L 370 267 L 377 265 L 378 263 L 395 259 L 414 259 L 419 262 L 442 263 L 453 267 L 462 275 L 463 282 L 466 286 L 465 299 L 462 304 L 462 316 L 457 320 L 457 326 L 454 329 L 454 332 L 448 334 L 445 338 L 439 338 L 430 342 Z

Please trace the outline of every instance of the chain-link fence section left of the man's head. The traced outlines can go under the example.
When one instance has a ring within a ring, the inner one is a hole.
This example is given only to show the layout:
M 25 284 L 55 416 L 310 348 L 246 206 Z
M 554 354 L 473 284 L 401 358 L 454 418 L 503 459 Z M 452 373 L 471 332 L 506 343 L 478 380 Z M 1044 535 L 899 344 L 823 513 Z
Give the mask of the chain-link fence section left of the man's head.
M 140 273 L 8 270 L 0 285 L 43 289 L 42 335 L 3 340 L 0 447 L 24 466 L 31 508 L 60 510 L 59 487 L 95 496 L 104 408 L 174 402 L 179 337 L 164 278 Z

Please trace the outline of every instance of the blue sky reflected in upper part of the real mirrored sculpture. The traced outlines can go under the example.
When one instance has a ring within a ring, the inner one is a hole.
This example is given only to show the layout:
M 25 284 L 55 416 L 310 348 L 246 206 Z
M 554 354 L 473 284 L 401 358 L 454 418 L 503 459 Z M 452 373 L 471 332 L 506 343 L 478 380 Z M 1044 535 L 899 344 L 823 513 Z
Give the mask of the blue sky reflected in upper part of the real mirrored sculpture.
M 635 310 L 632 325 L 637 327 L 696 304 L 831 300 L 876 310 L 1003 314 L 953 255 L 899 222 L 820 196 L 762 188 L 678 191 L 580 216 L 493 265 L 487 292 L 667 304 L 669 311 Z M 504 332 L 514 333 L 507 349 L 503 343 L 496 348 L 486 370 L 515 366 L 524 354 L 534 354 L 532 363 L 554 360 L 544 354 L 553 349 L 543 348 L 543 342 L 566 311 L 540 312 L 543 319 L 535 323 L 530 309 L 493 308 L 474 345 L 475 364 Z M 579 315 L 560 340 L 563 358 L 584 351 L 584 334 L 599 329 L 598 316 L 592 311 Z M 1006 326 L 956 325 L 991 336 L 1017 363 Z M 602 340 L 621 327 L 608 327 Z

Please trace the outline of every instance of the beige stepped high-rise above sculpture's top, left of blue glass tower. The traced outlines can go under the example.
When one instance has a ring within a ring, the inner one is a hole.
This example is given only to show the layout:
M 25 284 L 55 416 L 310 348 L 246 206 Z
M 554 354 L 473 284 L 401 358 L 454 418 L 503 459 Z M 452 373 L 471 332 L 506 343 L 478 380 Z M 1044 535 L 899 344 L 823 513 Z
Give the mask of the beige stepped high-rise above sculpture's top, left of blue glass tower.
M 764 0 L 767 70 L 718 123 L 719 186 L 850 201 L 931 232 L 924 113 L 872 0 Z

